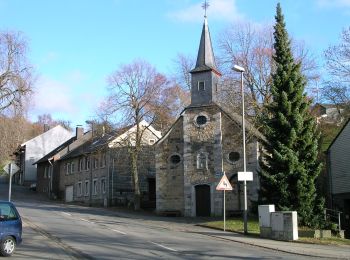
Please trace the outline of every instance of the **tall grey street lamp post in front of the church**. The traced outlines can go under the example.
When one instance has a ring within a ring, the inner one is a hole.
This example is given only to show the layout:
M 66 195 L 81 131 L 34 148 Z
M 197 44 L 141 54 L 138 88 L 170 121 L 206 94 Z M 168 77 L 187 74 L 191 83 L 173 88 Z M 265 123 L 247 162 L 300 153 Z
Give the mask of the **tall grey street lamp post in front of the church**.
M 243 91 L 243 73 L 244 68 L 238 65 L 234 65 L 232 68 L 234 71 L 241 73 L 241 95 L 242 95 L 242 131 L 243 131 L 243 171 L 246 173 L 246 156 L 245 156 L 245 120 L 244 120 L 244 91 Z M 247 228 L 247 180 L 244 179 L 244 234 L 248 234 Z

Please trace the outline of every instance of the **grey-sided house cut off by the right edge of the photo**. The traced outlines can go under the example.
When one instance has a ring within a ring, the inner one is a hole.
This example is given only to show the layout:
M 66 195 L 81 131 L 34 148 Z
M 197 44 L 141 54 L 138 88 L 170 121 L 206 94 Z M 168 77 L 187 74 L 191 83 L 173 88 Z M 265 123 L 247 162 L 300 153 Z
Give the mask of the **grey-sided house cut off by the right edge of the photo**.
M 343 212 L 342 228 L 350 233 L 350 119 L 327 150 L 332 208 Z

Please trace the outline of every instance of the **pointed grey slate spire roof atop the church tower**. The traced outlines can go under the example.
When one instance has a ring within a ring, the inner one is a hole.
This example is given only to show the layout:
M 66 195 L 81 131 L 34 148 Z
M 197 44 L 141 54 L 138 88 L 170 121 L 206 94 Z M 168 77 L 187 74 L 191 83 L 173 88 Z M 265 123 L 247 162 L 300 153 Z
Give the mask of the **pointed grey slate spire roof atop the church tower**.
M 208 70 L 214 70 L 215 72 L 218 73 L 218 70 L 215 64 L 213 47 L 211 44 L 208 20 L 207 20 L 207 17 L 205 16 L 201 40 L 199 43 L 196 67 L 193 70 L 191 70 L 191 73 L 208 71 Z

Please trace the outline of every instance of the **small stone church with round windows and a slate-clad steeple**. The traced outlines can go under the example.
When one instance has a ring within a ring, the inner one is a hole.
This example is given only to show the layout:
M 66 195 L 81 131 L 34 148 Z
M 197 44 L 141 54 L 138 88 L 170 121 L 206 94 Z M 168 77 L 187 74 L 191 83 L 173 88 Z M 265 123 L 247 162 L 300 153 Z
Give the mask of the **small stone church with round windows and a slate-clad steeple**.
M 206 16 L 192 76 L 191 104 L 157 142 L 156 210 L 159 214 L 182 216 L 221 216 L 223 191 L 216 186 L 226 173 L 232 191 L 226 191 L 226 210 L 244 207 L 242 116 L 220 105 L 220 77 Z M 238 112 L 239 113 L 239 112 Z M 258 137 L 246 121 L 246 165 L 253 172 L 247 182 L 248 206 L 258 199 Z

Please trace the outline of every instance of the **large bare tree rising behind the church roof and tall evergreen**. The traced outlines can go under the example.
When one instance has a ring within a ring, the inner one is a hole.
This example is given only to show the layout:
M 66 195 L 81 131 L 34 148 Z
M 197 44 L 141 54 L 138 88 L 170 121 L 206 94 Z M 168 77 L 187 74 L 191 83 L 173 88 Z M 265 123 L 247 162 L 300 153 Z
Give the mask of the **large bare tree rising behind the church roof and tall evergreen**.
M 302 64 L 302 72 L 309 81 L 318 78 L 317 65 L 305 46 L 301 43 L 293 45 L 296 61 Z M 275 69 L 273 60 L 273 28 L 271 25 L 261 27 L 250 23 L 234 24 L 226 29 L 219 38 L 219 67 L 226 77 L 226 89 L 238 88 L 239 74 L 232 72 L 234 64 L 244 67 L 247 99 L 255 115 L 259 115 L 263 107 L 271 101 L 271 73 Z M 230 83 L 231 82 L 231 83 Z M 233 91 L 237 92 L 237 90 Z M 234 93 L 234 95 L 236 95 Z M 228 94 L 225 94 L 227 97 Z M 233 99 L 231 99 L 233 100 Z

